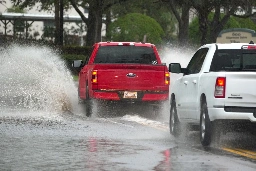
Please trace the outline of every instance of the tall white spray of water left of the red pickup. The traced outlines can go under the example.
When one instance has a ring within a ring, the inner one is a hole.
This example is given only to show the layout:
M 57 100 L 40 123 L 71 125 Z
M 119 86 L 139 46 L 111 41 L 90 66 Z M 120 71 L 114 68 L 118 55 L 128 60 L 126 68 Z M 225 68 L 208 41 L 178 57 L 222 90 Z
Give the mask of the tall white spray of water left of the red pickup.
M 13 44 L 1 50 L 0 109 L 59 112 L 77 105 L 77 88 L 57 51 Z

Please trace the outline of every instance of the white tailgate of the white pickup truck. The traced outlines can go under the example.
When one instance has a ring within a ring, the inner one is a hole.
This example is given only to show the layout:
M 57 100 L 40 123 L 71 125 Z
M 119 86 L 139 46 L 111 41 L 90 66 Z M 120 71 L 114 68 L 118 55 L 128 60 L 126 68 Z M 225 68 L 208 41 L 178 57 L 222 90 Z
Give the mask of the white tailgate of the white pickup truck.
M 225 106 L 256 107 L 256 72 L 227 72 Z

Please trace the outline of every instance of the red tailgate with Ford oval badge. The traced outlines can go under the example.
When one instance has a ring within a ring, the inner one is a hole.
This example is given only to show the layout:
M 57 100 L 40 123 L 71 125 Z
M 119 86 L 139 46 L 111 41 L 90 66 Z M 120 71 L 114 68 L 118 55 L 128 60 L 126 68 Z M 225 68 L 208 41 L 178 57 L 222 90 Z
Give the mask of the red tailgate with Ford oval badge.
M 166 90 L 165 65 L 97 65 L 98 89 Z

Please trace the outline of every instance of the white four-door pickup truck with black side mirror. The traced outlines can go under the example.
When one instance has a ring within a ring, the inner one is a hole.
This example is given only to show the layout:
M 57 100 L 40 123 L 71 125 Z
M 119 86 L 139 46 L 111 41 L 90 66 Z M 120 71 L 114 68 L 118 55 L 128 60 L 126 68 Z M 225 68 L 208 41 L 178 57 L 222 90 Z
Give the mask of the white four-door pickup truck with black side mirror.
M 172 135 L 199 128 L 208 146 L 221 133 L 256 132 L 256 44 L 206 44 L 187 68 L 170 63 L 169 71 L 183 74 L 171 88 Z

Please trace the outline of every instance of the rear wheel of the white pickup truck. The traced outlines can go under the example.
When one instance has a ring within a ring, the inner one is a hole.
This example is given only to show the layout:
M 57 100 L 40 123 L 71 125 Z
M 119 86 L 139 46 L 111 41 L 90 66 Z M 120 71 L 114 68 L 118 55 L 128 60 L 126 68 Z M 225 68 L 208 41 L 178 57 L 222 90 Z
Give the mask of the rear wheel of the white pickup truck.
M 204 103 L 201 107 L 200 115 L 200 140 L 203 146 L 208 146 L 211 143 L 212 129 L 211 121 L 208 115 L 207 104 Z

